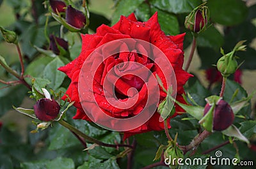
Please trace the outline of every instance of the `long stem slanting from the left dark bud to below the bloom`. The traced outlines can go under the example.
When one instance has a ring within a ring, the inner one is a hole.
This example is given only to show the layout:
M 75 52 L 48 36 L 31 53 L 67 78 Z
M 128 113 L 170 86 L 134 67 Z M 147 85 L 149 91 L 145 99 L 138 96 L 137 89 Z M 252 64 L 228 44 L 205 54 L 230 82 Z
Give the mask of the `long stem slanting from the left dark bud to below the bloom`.
M 93 142 L 93 143 L 97 143 L 97 145 L 101 145 L 101 146 L 105 146 L 105 147 L 129 147 L 131 149 L 133 149 L 132 145 L 127 145 L 127 144 L 109 144 L 109 143 L 103 143 L 100 142 L 99 140 L 92 138 L 88 135 L 85 135 L 82 131 L 80 131 L 79 129 L 74 128 L 74 126 L 68 124 L 67 122 L 60 120 L 58 121 L 62 126 L 64 126 L 65 128 L 69 129 L 70 131 L 76 133 L 77 135 L 83 137 L 85 140 L 87 140 L 88 142 Z

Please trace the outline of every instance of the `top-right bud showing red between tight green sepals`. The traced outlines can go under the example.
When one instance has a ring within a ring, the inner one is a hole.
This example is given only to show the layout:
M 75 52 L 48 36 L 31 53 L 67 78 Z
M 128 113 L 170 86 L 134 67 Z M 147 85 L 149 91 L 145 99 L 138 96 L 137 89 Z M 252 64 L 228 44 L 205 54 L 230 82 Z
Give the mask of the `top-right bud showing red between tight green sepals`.
M 200 33 L 207 26 L 210 15 L 208 7 L 204 6 L 204 4 L 196 7 L 185 19 L 186 29 L 189 29 L 193 33 Z

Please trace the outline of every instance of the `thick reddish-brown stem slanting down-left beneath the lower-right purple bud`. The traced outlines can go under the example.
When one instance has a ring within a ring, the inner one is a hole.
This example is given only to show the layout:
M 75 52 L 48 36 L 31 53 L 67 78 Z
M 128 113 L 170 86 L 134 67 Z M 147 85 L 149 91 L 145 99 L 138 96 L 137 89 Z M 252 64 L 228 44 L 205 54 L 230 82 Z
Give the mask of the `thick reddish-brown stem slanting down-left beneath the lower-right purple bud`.
M 196 136 L 189 145 L 186 146 L 179 146 L 180 149 L 183 151 L 184 154 L 190 151 L 191 149 L 197 147 L 207 136 L 211 135 L 211 132 L 204 130 L 200 135 Z

